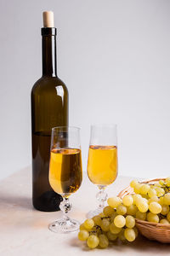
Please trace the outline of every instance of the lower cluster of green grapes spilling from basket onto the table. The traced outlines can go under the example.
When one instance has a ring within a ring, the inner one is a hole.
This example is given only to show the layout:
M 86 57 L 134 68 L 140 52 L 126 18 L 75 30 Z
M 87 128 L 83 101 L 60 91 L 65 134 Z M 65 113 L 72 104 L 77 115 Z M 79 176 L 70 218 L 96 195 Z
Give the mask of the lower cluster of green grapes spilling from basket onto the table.
M 138 236 L 135 218 L 130 215 L 134 212 L 133 197 L 128 195 L 122 200 L 115 196 L 109 198 L 107 202 L 108 206 L 102 213 L 86 219 L 80 225 L 78 238 L 81 241 L 87 241 L 90 248 L 108 247 L 109 243 L 116 241 L 117 238 L 122 241 L 134 241 Z M 128 214 L 128 208 L 130 214 Z

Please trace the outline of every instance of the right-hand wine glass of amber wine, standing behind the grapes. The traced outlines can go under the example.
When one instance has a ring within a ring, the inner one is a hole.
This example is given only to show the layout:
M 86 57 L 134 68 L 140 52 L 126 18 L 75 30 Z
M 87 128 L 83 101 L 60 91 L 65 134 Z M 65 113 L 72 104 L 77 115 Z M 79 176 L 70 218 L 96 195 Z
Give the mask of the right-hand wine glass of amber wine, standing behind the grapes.
M 116 176 L 116 125 L 92 125 L 88 150 L 88 177 L 99 188 L 96 195 L 99 207 L 88 212 L 88 218 L 93 218 L 103 211 L 107 199 L 105 188 L 116 180 Z

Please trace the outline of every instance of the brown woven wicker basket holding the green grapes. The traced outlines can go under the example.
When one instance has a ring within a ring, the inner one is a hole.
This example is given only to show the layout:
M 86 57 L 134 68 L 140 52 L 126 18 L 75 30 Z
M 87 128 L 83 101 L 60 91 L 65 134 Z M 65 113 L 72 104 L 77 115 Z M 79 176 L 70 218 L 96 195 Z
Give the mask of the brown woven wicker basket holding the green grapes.
M 141 183 L 154 184 L 157 183 L 160 179 L 165 180 L 164 178 L 156 178 Z M 129 194 L 133 194 L 133 188 L 130 186 L 126 189 L 123 189 L 118 196 L 122 198 L 124 195 Z M 170 224 L 156 224 L 136 218 L 136 227 L 143 236 L 150 240 L 170 243 Z

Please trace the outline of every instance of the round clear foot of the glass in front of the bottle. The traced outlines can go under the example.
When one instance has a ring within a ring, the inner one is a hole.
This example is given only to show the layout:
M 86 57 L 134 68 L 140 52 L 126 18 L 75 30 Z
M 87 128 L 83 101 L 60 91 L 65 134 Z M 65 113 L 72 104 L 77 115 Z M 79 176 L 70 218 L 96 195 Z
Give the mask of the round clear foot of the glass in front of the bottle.
M 63 218 L 59 218 L 52 224 L 49 224 L 48 228 L 54 233 L 64 234 L 79 230 L 79 226 L 79 222 L 75 219 L 65 220 Z

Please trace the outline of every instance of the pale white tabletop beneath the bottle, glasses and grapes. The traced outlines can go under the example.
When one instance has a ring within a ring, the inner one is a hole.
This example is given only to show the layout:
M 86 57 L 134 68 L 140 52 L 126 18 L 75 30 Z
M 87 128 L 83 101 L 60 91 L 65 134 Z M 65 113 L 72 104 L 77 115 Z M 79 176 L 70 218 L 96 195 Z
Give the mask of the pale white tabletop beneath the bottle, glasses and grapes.
M 108 187 L 108 195 L 117 193 L 128 185 L 132 177 L 117 177 Z M 73 204 L 70 216 L 82 222 L 89 210 L 97 207 L 98 189 L 84 173 L 81 188 L 71 195 Z M 146 240 L 139 236 L 133 243 L 117 241 L 107 249 L 90 250 L 77 240 L 77 232 L 55 234 L 48 224 L 61 217 L 61 212 L 39 212 L 31 205 L 31 168 L 0 182 L 0 255 L 170 255 L 170 245 Z

